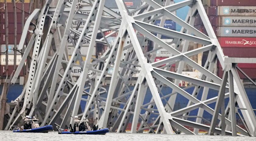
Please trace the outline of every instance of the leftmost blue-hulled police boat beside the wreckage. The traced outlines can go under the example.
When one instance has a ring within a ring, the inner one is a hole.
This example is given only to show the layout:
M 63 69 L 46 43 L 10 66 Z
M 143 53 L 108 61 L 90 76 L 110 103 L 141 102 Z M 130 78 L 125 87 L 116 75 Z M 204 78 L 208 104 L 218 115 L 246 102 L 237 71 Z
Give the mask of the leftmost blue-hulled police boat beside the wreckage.
M 20 128 L 18 126 L 10 126 L 13 132 L 26 132 L 26 133 L 48 133 L 53 130 L 51 125 L 40 127 L 38 124 L 38 119 L 35 117 L 32 119 L 29 116 L 25 118 L 25 124 Z

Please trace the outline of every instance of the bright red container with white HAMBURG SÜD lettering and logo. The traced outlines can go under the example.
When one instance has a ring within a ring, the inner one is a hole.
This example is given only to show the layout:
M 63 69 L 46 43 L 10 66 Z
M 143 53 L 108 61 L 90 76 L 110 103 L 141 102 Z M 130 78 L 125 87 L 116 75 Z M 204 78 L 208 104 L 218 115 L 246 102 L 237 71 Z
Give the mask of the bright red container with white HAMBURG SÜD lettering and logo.
M 221 47 L 256 47 L 256 38 L 250 37 L 219 37 Z

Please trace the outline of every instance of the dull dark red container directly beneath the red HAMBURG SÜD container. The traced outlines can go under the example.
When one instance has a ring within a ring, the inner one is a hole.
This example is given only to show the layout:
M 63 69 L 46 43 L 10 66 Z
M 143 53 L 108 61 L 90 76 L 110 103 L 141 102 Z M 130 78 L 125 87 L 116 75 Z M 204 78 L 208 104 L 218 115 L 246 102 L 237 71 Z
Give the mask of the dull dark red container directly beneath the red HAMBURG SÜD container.
M 252 47 L 223 47 L 225 56 L 239 58 L 256 58 L 256 48 Z

